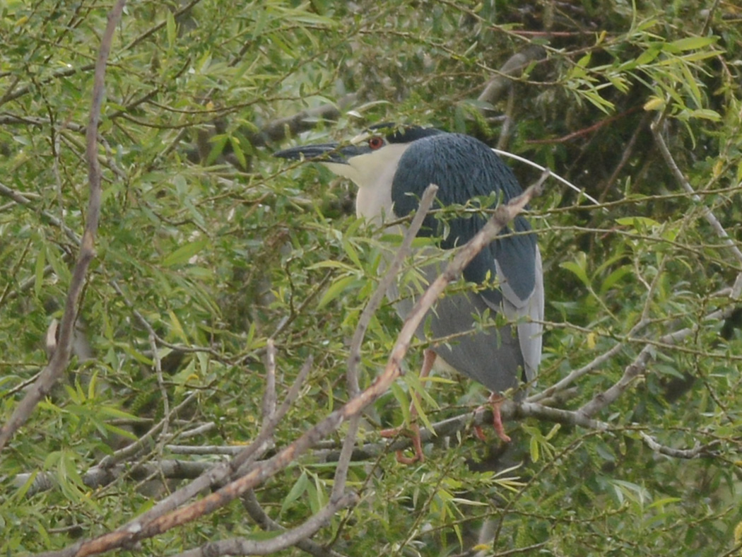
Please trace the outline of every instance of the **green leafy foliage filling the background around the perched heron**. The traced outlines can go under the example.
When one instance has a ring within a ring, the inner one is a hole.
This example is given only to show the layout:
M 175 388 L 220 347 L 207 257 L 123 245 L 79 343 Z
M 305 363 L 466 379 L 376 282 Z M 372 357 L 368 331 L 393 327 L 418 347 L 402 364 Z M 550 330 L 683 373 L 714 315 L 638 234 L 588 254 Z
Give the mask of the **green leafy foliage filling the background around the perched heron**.
M 93 65 L 109 8 L 0 1 L 3 421 L 47 362 L 47 328 L 70 284 L 88 202 Z M 703 216 L 711 209 L 738 238 L 741 22 L 729 1 L 127 4 L 106 74 L 102 215 L 79 342 L 63 382 L 0 455 L 1 553 L 114 530 L 182 485 L 134 464 L 223 458 L 174 454 L 172 444 L 254 438 L 269 338 L 279 398 L 314 361 L 277 446 L 347 400 L 349 339 L 383 273 L 384 247 L 355 218 L 348 183 L 271 152 L 392 120 L 473 134 L 603 203 L 578 203 L 554 181 L 532 203 L 547 298 L 539 388 L 620 345 L 573 385 L 563 405 L 580 408 L 648 343 L 652 359 L 598 416 L 609 431 L 526 418 L 506 423 L 508 447 L 467 429 L 426 445 L 427 460 L 410 468 L 388 452 L 354 462 L 349 488 L 361 500 L 315 541 L 347 556 L 473 555 L 473 547 L 487 556 L 735 554 L 742 338 L 724 289 L 742 262 Z M 542 56 L 510 78 L 509 93 L 494 104 L 478 99 L 513 53 L 534 46 Z M 298 134 L 280 119 L 301 111 Z M 650 130 L 660 120 L 700 199 L 663 160 Z M 539 175 L 508 163 L 523 184 Z M 729 319 L 706 319 L 719 309 Z M 376 314 L 361 387 L 383 367 L 399 327 L 388 305 Z M 663 345 L 663 335 L 686 327 L 695 333 Z M 410 375 L 370 408 L 361 441 L 378 442 L 378 429 L 401 423 L 416 388 Z M 472 411 L 485 396 L 460 377 L 427 382 L 427 391 L 430 421 Z M 85 485 L 105 455 L 162 423 L 111 483 Z M 640 432 L 677 449 L 715 444 L 683 460 L 653 452 Z M 292 527 L 326 504 L 333 471 L 310 452 L 257 499 Z M 28 492 L 42 473 L 51 489 Z M 483 527 L 491 535 L 477 546 Z M 141 551 L 175 554 L 234 536 L 266 536 L 239 504 Z

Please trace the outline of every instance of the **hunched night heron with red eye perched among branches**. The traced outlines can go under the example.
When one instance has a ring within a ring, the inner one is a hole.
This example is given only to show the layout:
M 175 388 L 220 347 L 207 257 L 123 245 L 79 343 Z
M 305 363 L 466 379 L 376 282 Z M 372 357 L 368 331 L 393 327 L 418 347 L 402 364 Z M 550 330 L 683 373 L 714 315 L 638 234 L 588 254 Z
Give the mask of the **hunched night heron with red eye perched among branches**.
M 349 143 L 315 143 L 274 153 L 289 160 L 314 160 L 336 175 L 358 186 L 355 211 L 379 229 L 385 222 L 410 215 L 430 183 L 438 186 L 439 206 L 464 206 L 470 201 L 494 196 L 507 203 L 522 193 L 513 171 L 482 141 L 467 134 L 438 128 L 381 123 L 367 128 Z M 439 249 L 448 251 L 473 238 L 485 225 L 482 212 L 458 214 L 441 222 L 426 215 L 418 236 L 439 237 Z M 447 232 L 447 233 L 446 233 Z M 427 281 L 439 274 L 437 265 L 420 269 Z M 481 383 L 492 394 L 493 426 L 504 442 L 505 433 L 499 406 L 502 393 L 535 382 L 542 355 L 544 281 L 536 232 L 523 215 L 518 215 L 463 270 L 464 279 L 476 288 L 450 293 L 431 308 L 427 325 L 416 334 L 433 344 L 424 351 L 421 377 L 435 366 L 453 368 Z M 387 297 L 395 302 L 402 319 L 413 307 L 414 297 L 398 296 L 394 288 Z M 476 327 L 480 316 L 502 313 L 507 323 L 496 328 Z M 494 329 L 494 330 L 493 330 Z M 445 339 L 435 342 L 434 339 Z M 522 397 L 522 391 L 516 393 Z M 411 414 L 413 414 L 411 408 Z M 405 463 L 424 460 L 419 429 L 411 424 L 414 457 L 397 459 Z M 397 430 L 387 430 L 389 436 Z M 482 437 L 481 430 L 477 435 Z

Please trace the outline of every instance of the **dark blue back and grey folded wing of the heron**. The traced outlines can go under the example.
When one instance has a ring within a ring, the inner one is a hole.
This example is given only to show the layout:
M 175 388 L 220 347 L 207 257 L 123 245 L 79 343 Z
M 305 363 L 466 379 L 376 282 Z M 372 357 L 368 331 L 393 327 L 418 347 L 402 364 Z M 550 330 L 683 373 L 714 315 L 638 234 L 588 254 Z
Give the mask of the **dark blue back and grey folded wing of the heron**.
M 403 216 L 416 209 L 430 183 L 439 186 L 437 201 L 441 206 L 464 204 L 492 194 L 506 203 L 522 191 L 513 172 L 489 147 L 459 134 L 426 137 L 404 152 L 392 186 L 395 214 Z M 483 215 L 447 220 L 449 233 L 441 247 L 466 243 L 485 222 Z M 439 221 L 428 215 L 421 235 L 439 234 Z M 430 332 L 444 338 L 468 330 L 473 315 L 490 309 L 502 310 L 508 321 L 516 323 L 518 334 L 513 336 L 508 325 L 492 333 L 474 333 L 454 343 L 443 343 L 436 352 L 493 391 L 515 386 L 518 369 L 522 370 L 522 380 L 533 381 L 541 359 L 544 290 L 541 256 L 528 221 L 516 217 L 511 227 L 467 265 L 464 278 L 479 284 L 489 279 L 497 286 L 441 299 L 430 317 Z M 404 307 L 398 309 L 402 315 L 406 313 Z

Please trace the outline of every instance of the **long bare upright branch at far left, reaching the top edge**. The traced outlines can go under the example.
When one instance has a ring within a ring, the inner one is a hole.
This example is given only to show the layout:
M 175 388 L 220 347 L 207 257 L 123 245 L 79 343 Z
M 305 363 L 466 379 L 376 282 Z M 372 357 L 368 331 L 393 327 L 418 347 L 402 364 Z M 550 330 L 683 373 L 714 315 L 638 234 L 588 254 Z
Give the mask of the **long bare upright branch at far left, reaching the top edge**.
M 50 393 L 54 383 L 59 379 L 62 372 L 65 371 L 70 361 L 70 347 L 72 345 L 75 320 L 77 318 L 79 298 L 82 293 L 82 287 L 85 285 L 88 266 L 95 256 L 95 239 L 100 217 L 102 188 L 101 172 L 97 156 L 97 134 L 100 109 L 105 95 L 105 68 L 108 63 L 108 53 L 111 50 L 111 43 L 114 40 L 114 31 L 116 30 L 119 19 L 121 19 L 121 13 L 125 3 L 125 0 L 116 1 L 113 9 L 108 13 L 108 25 L 105 27 L 98 51 L 98 59 L 96 60 L 95 76 L 93 78 L 93 102 L 87 132 L 88 182 L 90 184 L 88 215 L 85 223 L 85 234 L 82 236 L 82 244 L 80 245 L 80 252 L 72 272 L 70 289 L 65 304 L 65 313 L 59 325 L 57 347 L 50 362 L 39 375 L 39 380 L 27 391 L 26 396 L 16 406 L 15 411 L 13 411 L 10 420 L 0 429 L 0 451 L 2 451 L 7 442 L 13 437 L 13 434 L 28 420 L 39 400 L 42 400 L 43 397 Z

